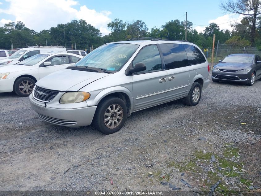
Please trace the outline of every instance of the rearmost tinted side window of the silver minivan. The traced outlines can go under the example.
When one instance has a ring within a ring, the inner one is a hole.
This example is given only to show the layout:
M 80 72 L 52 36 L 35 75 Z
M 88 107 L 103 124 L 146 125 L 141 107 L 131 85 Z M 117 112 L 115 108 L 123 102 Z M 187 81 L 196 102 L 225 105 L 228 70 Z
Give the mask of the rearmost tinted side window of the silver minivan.
M 206 62 L 206 59 L 202 54 L 202 52 L 199 49 L 197 49 L 195 46 L 189 44 L 183 44 L 183 46 L 187 53 L 187 59 L 189 65 Z

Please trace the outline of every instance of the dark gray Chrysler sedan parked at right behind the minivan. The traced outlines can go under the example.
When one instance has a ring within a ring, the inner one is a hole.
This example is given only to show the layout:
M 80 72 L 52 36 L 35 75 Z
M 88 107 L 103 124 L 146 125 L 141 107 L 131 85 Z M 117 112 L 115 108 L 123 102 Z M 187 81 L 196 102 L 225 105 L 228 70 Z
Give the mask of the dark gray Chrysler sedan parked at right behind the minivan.
M 212 81 L 236 81 L 253 85 L 261 80 L 261 58 L 256 54 L 231 54 L 219 60 L 212 70 Z

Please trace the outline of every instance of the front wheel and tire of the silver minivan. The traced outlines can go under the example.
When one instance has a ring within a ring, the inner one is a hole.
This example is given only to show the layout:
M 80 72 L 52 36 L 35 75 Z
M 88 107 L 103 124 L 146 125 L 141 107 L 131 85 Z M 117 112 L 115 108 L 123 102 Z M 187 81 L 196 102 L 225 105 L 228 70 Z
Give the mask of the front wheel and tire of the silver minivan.
M 117 114 L 120 111 L 121 113 Z M 119 131 L 123 127 L 126 118 L 127 107 L 125 102 L 117 97 L 107 97 L 98 104 L 93 125 L 104 134 L 112 134 Z M 118 125 L 116 122 L 118 122 Z

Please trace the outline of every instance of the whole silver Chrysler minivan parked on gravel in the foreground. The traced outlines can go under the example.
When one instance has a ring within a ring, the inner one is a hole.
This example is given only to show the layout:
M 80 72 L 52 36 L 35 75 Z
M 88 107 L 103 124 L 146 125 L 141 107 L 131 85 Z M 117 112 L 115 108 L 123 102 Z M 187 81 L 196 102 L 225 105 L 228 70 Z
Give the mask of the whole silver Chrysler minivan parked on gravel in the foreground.
M 200 101 L 208 86 L 209 65 L 193 43 L 171 40 L 119 41 L 36 83 L 30 104 L 52 124 L 93 124 L 110 134 L 132 112 L 184 98 Z

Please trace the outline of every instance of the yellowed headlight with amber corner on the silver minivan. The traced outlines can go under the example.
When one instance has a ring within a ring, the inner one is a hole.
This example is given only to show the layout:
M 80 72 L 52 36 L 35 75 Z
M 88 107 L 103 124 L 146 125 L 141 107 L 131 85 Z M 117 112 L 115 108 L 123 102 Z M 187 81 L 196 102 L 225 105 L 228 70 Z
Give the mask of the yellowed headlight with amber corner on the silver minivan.
M 63 94 L 60 103 L 79 103 L 90 98 L 91 94 L 87 92 L 68 92 Z

